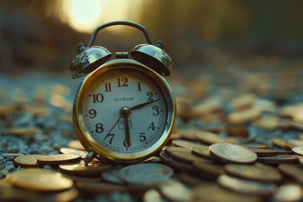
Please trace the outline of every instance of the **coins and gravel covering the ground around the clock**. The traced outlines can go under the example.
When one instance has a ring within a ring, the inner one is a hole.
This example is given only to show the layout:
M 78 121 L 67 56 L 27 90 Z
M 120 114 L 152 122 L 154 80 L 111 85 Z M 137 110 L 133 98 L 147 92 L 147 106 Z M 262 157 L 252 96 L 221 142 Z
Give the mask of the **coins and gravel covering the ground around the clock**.
M 225 78 L 215 85 L 207 77 L 168 79 L 178 115 L 169 143 L 144 162 L 111 165 L 83 161 L 88 153 L 71 115 L 78 83 L 0 77 L 0 201 L 303 201 L 303 94 L 297 88 L 285 84 L 265 96 L 273 85 L 264 74 L 227 86 Z

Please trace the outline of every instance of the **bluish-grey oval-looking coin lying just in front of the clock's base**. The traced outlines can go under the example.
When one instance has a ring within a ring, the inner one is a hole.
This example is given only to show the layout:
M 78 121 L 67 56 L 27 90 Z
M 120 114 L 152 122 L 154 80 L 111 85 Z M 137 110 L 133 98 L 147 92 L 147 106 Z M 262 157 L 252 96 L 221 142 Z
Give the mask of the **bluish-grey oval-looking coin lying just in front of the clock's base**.
M 120 178 L 130 184 L 156 185 L 171 178 L 174 171 L 158 163 L 141 163 L 124 167 L 120 171 Z

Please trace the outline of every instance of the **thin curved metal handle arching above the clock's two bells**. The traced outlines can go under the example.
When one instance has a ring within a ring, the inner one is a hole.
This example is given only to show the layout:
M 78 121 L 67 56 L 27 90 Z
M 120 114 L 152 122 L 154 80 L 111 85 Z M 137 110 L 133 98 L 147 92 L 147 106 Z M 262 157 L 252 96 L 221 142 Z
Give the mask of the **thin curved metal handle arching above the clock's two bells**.
M 97 33 L 98 31 L 106 28 L 106 27 L 110 27 L 110 26 L 114 26 L 114 25 L 126 25 L 126 26 L 130 26 L 130 27 L 134 27 L 138 30 L 141 30 L 147 40 L 147 42 L 150 44 L 150 45 L 153 45 L 153 42 L 152 42 L 152 37 L 151 35 L 149 34 L 149 32 L 145 29 L 145 27 L 143 27 L 142 25 L 139 25 L 135 22 L 130 22 L 130 21 L 112 21 L 112 22 L 107 22 L 107 23 L 104 23 L 102 25 L 99 25 L 91 34 L 91 40 L 88 44 L 87 47 L 91 47 L 92 44 L 94 43 L 95 39 L 96 39 L 96 36 L 97 36 Z

